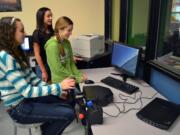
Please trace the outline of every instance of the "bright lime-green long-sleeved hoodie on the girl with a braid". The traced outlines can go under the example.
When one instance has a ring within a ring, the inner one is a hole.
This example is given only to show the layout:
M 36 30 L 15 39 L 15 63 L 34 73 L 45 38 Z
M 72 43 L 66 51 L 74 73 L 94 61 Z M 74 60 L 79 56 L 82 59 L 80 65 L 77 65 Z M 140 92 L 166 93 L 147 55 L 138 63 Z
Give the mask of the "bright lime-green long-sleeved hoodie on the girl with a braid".
M 60 46 L 64 47 L 64 57 L 60 54 Z M 74 63 L 71 44 L 68 40 L 58 43 L 58 40 L 52 37 L 46 42 L 45 50 L 53 83 L 61 82 L 67 77 L 76 78 L 78 83 L 82 81 L 82 73 Z

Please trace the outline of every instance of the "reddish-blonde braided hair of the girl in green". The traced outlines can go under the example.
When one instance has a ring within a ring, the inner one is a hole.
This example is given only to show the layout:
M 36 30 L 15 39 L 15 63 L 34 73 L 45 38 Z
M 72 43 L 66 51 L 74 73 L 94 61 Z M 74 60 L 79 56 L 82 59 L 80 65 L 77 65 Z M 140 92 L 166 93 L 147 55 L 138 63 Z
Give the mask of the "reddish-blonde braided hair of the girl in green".
M 58 20 L 56 21 L 54 32 L 55 32 L 56 38 L 58 39 L 59 42 L 60 42 L 60 37 L 58 34 L 59 30 L 63 30 L 64 28 L 66 28 L 69 25 L 73 25 L 73 21 L 70 18 L 68 18 L 67 16 L 62 16 L 62 17 L 58 18 Z M 62 46 L 60 46 L 60 54 L 62 56 L 65 56 L 65 51 Z

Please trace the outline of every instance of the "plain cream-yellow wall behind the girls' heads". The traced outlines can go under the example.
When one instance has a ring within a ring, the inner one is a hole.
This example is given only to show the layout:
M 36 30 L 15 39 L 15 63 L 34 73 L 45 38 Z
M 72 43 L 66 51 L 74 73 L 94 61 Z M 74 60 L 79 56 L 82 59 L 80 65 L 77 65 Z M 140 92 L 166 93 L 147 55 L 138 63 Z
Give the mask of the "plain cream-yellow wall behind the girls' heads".
M 35 29 L 36 11 L 43 6 L 52 9 L 54 23 L 60 16 L 68 16 L 73 20 L 72 36 L 104 34 L 104 0 L 21 0 L 21 4 L 22 12 L 0 12 L 0 17 L 20 18 L 28 35 Z

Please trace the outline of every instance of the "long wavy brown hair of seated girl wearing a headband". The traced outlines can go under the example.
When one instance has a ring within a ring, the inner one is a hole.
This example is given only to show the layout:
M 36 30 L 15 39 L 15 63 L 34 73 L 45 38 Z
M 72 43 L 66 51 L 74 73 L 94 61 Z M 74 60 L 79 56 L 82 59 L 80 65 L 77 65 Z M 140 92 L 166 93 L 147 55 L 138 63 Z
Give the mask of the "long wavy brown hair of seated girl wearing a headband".
M 15 39 L 16 22 L 19 18 L 2 17 L 0 19 L 0 51 L 4 50 L 12 55 L 24 69 L 29 66 L 27 59 Z

